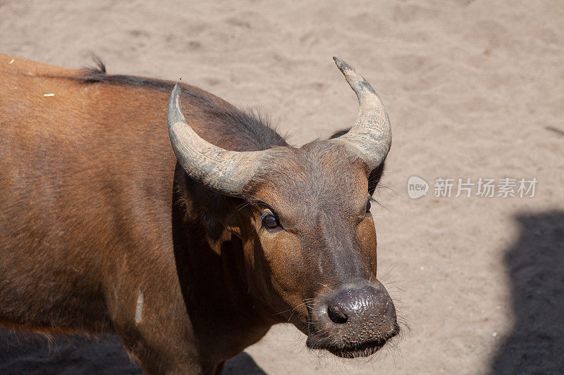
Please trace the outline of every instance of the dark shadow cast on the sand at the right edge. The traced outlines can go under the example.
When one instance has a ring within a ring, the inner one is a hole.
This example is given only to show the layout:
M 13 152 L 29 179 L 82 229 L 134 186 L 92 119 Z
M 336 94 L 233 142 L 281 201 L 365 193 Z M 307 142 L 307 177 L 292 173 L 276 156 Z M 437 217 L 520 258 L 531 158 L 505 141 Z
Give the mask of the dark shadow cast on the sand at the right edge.
M 564 374 L 564 211 L 521 214 L 505 253 L 515 323 L 491 374 Z

